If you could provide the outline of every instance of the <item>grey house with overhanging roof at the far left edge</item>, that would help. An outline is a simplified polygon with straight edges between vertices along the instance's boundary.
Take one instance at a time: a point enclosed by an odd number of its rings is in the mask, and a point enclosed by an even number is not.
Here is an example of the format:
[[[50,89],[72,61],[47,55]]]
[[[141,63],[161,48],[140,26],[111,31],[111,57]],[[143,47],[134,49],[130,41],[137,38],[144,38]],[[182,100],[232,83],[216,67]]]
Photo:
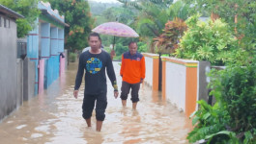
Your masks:
[[[19,84],[22,73],[16,59],[17,18],[23,16],[0,4],[0,120],[21,105],[23,99]]]

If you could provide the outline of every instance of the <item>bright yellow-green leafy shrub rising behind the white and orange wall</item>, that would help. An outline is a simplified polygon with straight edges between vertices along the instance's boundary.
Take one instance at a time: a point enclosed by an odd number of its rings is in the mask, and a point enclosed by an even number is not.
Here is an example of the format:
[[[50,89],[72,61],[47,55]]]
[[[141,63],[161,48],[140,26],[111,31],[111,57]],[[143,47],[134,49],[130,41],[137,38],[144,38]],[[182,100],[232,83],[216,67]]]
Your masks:
[[[208,22],[194,15],[186,20],[188,30],[182,37],[177,57],[190,60],[208,60],[213,65],[232,61],[232,52],[238,51],[238,40],[220,19]]]

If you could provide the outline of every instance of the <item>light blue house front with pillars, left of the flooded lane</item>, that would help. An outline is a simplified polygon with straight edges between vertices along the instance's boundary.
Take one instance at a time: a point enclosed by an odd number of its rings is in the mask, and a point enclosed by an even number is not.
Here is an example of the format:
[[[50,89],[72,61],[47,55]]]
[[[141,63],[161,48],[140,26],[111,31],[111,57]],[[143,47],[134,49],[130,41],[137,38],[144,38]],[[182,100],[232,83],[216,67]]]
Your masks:
[[[27,57],[36,62],[35,95],[38,94],[39,79],[43,78],[43,87],[47,88],[59,78],[60,53],[64,53],[64,16],[53,11],[49,3],[39,2],[42,11],[37,19],[38,25],[27,36]],[[44,67],[39,60],[44,60]],[[39,68],[43,68],[43,77],[39,77]],[[42,82],[42,81],[41,81]]]

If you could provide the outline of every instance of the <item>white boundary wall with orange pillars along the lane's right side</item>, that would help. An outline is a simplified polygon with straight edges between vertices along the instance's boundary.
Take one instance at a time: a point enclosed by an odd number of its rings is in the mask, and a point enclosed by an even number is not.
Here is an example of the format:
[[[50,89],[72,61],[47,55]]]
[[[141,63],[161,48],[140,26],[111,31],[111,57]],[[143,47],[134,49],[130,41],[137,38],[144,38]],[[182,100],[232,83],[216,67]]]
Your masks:
[[[156,54],[143,54],[146,60],[145,83],[158,90],[159,60]],[[162,99],[166,99],[184,111],[188,117],[197,110],[198,100],[209,101],[207,74],[211,70],[209,61],[181,60],[162,57]],[[213,100],[214,101],[214,100]]]

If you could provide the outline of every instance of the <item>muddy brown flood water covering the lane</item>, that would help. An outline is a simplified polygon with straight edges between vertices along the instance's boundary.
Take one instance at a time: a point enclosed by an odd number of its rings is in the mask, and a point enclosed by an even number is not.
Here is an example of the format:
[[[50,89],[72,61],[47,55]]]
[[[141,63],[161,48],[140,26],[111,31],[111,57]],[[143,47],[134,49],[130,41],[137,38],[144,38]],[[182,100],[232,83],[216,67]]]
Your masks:
[[[119,89],[119,62],[113,62]],[[190,121],[160,93],[142,84],[137,110],[122,108],[115,99],[108,81],[108,105],[101,132],[96,132],[95,111],[92,128],[82,118],[83,90],[78,99],[72,96],[77,63],[70,63],[66,73],[43,95],[34,97],[0,123],[0,143],[3,144],[185,144]],[[83,89],[84,85],[80,87]]]

